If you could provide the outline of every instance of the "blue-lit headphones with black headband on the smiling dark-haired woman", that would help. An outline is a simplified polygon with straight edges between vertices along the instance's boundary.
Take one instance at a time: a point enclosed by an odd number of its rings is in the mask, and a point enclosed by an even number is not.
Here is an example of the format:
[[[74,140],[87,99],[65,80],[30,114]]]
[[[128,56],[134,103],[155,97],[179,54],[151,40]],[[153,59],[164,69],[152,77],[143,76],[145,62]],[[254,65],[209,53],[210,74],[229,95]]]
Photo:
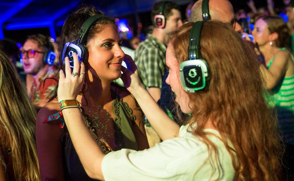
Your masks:
[[[102,17],[105,17],[102,14],[94,15],[89,17],[83,25],[81,26],[80,31],[77,33],[77,38],[74,42],[67,42],[62,51],[62,62],[65,64],[65,57],[69,57],[70,59],[70,67],[74,68],[74,58],[73,53],[77,53],[79,61],[83,61],[85,65],[88,62],[88,50],[85,46],[83,46],[85,37],[91,28],[91,26],[100,20]]]

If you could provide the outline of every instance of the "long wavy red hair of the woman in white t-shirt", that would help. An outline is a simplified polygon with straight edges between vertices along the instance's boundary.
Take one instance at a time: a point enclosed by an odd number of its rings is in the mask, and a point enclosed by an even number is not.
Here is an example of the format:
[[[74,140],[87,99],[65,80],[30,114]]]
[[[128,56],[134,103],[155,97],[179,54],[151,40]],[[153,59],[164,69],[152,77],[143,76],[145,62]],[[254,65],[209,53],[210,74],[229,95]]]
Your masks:
[[[188,59],[192,24],[184,24],[171,36],[179,63]],[[278,180],[281,137],[276,116],[265,101],[254,51],[228,24],[219,21],[204,23],[200,45],[201,57],[210,68],[210,82],[205,90],[187,93],[193,110],[188,123],[197,123],[196,128],[190,126],[192,133],[201,137],[210,157],[216,158],[216,146],[207,138],[212,133],[204,131],[209,121],[213,124],[231,155],[236,180]]]

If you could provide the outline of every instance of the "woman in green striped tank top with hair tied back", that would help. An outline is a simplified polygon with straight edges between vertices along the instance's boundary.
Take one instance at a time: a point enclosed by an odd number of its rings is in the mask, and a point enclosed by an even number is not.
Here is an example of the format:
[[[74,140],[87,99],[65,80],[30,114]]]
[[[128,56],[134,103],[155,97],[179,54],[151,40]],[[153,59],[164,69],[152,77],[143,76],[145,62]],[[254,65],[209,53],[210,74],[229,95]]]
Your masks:
[[[263,16],[252,34],[265,58],[266,67],[260,65],[260,69],[270,90],[269,105],[277,109],[284,142],[294,145],[294,57],[285,48],[288,27],[280,17]]]

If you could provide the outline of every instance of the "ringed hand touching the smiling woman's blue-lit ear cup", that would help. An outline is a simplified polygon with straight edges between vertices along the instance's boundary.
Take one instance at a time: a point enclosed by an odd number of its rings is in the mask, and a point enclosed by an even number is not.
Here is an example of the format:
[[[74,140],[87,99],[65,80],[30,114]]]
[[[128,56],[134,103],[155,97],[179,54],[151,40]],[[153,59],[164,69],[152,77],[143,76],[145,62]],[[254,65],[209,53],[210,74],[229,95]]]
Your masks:
[[[85,65],[79,63],[77,54],[73,54],[74,69],[71,72],[69,58],[65,58],[65,75],[62,70],[59,72],[59,83],[57,96],[58,101],[76,99],[79,94],[85,79]]]

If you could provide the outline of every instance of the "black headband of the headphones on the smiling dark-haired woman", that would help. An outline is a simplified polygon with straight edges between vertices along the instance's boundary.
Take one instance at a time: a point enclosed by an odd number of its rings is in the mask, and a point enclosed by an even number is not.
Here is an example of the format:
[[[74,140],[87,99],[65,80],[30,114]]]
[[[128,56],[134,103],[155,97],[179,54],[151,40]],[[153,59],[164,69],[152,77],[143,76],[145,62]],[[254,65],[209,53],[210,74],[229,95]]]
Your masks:
[[[91,28],[92,24],[94,24],[96,21],[101,19],[102,17],[105,17],[102,14],[94,15],[92,17],[89,17],[82,25],[80,31],[77,33],[77,38],[79,39],[79,43],[83,44],[84,38],[87,35],[89,29]]]

